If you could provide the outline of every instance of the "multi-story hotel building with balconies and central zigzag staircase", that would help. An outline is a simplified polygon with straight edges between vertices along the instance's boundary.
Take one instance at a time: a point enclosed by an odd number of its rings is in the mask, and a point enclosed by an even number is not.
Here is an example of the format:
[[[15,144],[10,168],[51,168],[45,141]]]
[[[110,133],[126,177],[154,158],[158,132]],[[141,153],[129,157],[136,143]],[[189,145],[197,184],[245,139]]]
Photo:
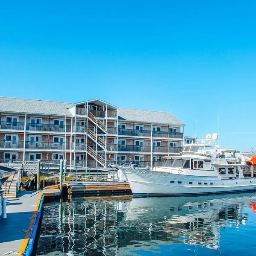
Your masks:
[[[122,160],[157,165],[178,154],[184,123],[171,113],[117,108],[100,99],[79,103],[0,97],[0,160],[37,160],[106,168]]]

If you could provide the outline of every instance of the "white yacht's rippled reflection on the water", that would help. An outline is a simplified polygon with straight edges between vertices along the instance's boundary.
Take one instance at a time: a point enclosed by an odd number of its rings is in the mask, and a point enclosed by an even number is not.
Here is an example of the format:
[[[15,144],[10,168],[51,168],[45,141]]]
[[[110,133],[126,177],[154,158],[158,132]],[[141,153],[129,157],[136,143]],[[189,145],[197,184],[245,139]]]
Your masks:
[[[160,199],[160,200],[159,200]],[[200,196],[180,198],[133,198],[125,224],[163,224],[166,238],[172,242],[218,249],[220,228],[246,224],[244,204],[253,204],[255,194]],[[156,226],[155,226],[156,224]]]

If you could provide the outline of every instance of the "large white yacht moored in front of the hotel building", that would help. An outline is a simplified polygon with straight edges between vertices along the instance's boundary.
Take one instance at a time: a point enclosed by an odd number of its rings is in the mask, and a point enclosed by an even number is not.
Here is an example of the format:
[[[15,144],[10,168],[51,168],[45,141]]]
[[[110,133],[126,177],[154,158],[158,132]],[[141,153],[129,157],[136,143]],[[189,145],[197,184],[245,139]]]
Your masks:
[[[256,178],[245,178],[240,164],[218,157],[217,134],[207,141],[186,144],[180,155],[164,157],[162,166],[149,169],[118,166],[134,196],[207,195],[256,190]]]

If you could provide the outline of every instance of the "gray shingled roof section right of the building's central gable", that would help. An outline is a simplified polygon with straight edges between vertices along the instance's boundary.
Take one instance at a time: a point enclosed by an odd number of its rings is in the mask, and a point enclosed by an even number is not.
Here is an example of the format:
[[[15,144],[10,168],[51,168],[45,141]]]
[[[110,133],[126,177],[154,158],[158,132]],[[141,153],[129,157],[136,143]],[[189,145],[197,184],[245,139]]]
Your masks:
[[[119,108],[118,115],[119,120],[170,125],[185,125],[183,122],[177,119],[177,117],[168,112]]]

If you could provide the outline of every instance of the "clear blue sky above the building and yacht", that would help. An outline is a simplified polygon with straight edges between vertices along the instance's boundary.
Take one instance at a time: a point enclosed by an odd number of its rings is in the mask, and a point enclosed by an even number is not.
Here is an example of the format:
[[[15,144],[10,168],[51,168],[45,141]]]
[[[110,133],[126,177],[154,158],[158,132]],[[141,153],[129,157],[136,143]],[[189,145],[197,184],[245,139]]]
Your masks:
[[[0,2],[0,95],[171,111],[256,150],[256,2]]]

